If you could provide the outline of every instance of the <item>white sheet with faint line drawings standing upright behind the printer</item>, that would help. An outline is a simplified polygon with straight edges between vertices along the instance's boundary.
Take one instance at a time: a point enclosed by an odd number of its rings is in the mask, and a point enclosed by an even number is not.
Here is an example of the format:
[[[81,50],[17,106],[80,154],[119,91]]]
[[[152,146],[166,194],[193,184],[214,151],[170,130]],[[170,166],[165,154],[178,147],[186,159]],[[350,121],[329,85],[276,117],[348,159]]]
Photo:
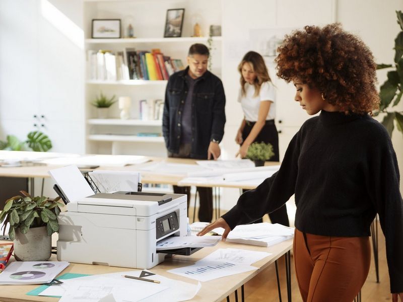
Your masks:
[[[101,193],[138,191],[140,172],[97,170],[88,173]]]

